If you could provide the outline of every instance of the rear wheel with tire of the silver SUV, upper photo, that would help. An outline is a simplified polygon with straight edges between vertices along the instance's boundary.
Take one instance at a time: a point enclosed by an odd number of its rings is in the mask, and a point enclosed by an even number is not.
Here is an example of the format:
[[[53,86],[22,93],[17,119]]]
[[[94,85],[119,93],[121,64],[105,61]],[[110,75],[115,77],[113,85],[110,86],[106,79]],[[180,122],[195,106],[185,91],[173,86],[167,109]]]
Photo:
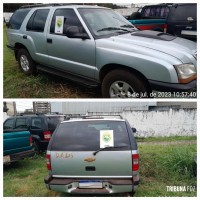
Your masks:
[[[17,55],[20,70],[26,75],[34,75],[36,66],[26,49],[20,49]]]

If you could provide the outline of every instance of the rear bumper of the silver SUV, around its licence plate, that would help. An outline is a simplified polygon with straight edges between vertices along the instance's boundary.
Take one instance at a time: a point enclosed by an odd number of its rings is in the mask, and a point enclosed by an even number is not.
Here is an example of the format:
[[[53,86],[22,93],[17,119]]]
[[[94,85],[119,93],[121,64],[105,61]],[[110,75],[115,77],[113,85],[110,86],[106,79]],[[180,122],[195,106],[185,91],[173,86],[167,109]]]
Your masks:
[[[98,180],[102,182],[102,188],[80,188],[79,181],[83,178],[53,178],[47,176],[44,179],[47,189],[60,192],[67,192],[72,194],[111,194],[111,193],[124,193],[134,192],[139,184],[139,181],[133,182],[133,179],[122,178],[104,178],[104,179],[84,179],[87,181]]]

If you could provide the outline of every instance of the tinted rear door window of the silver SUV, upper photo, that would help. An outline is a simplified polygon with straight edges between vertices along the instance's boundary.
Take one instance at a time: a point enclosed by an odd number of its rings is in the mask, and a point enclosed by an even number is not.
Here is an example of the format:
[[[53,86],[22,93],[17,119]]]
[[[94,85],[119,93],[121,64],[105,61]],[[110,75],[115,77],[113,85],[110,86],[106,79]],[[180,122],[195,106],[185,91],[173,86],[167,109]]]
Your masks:
[[[49,9],[36,10],[29,19],[26,26],[26,30],[43,32],[48,14],[49,14]]]

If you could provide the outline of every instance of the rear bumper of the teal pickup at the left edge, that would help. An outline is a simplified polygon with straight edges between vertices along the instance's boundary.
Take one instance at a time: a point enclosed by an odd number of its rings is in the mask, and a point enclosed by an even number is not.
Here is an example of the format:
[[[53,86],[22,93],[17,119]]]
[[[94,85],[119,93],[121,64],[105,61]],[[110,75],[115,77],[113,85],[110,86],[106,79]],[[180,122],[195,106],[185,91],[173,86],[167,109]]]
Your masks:
[[[5,157],[9,157],[9,159],[4,159],[5,162],[3,164],[16,162],[16,161],[22,160],[26,157],[31,157],[33,155],[34,155],[34,150],[28,150],[28,151],[24,151],[24,152],[19,152],[19,153],[7,155]]]

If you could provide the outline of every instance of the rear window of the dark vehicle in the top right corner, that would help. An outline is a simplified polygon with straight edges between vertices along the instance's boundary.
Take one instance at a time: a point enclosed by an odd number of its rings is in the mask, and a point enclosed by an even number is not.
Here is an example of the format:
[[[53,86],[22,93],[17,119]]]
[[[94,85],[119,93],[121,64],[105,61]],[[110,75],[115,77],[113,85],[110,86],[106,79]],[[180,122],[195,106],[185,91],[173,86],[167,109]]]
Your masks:
[[[185,4],[177,5],[171,8],[168,21],[187,21],[188,18],[197,19],[197,5]]]

